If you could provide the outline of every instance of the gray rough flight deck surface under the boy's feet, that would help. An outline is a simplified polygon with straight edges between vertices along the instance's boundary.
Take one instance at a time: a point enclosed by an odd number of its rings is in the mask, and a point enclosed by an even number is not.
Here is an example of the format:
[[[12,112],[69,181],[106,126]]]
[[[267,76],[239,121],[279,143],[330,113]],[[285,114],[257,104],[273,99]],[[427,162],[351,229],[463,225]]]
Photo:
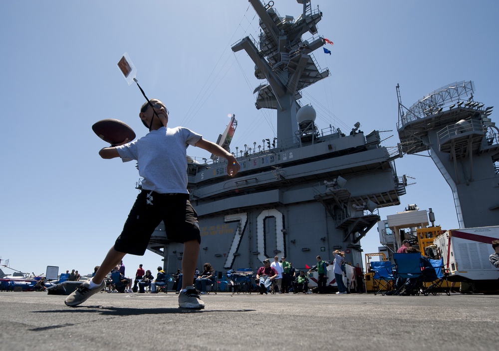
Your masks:
[[[0,350],[497,350],[499,296],[0,292]]]

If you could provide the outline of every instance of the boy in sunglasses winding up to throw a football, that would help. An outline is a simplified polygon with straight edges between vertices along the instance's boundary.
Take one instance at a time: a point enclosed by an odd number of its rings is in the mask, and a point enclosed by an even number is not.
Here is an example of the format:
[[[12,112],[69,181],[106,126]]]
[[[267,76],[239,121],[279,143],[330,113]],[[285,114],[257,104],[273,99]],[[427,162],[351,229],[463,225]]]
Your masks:
[[[205,307],[193,287],[194,271],[199,254],[201,235],[198,217],[187,191],[187,147],[200,147],[227,160],[227,174],[235,176],[241,168],[230,152],[203,139],[185,127],[168,127],[169,112],[165,104],[151,99],[140,108],[139,118],[149,129],[145,136],[99,151],[104,159],[120,157],[123,162],[136,160],[142,189],[125,222],[123,231],[109,250],[95,276],[83,282],[68,295],[65,304],[77,306],[102,290],[104,278],[125,254],[143,255],[149,238],[161,221],[168,239],[184,243],[182,271],[184,279],[179,306],[188,309]]]

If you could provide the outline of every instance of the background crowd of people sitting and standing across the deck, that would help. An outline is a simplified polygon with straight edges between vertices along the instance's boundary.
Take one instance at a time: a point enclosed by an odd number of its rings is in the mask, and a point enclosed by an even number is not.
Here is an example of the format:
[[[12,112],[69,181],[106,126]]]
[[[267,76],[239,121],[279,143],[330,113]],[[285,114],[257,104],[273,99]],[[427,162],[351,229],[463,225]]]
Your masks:
[[[499,268],[499,240],[494,240],[492,246],[495,252],[490,255],[491,263]],[[410,245],[408,240],[403,240],[401,247],[397,251],[398,253],[417,253],[419,252],[416,248]],[[313,289],[313,292],[317,293],[327,293],[331,289],[328,288],[327,281],[332,279],[332,276],[327,276],[327,267],[332,264],[332,273],[334,275],[334,280],[337,286],[336,294],[347,294],[348,291],[355,291],[358,293],[364,292],[364,272],[357,263],[355,267],[352,267],[355,274],[353,279],[345,279],[346,265],[351,265],[350,262],[345,262],[345,253],[343,251],[335,250],[332,252],[334,259],[332,262],[324,261],[321,256],[316,256],[316,264],[312,267],[308,267],[308,271],[296,269],[291,262],[289,262],[286,257],[282,256],[279,260],[278,256],[274,256],[273,261],[270,262],[265,259],[262,262],[262,266],[259,267],[254,276],[254,291],[260,294],[276,293],[312,293],[310,289],[310,277],[312,272],[317,272],[317,287]],[[94,273],[97,272],[99,266],[94,268]],[[329,270],[329,271],[331,271]],[[123,261],[119,265],[116,265],[110,273],[110,276],[106,279],[106,290],[108,292],[138,292],[145,293],[148,290],[152,294],[158,292],[168,292],[168,274],[163,270],[161,266],[157,267],[156,277],[152,274],[150,270],[144,270],[142,264],[139,264],[137,271],[135,273],[135,278],[125,276],[125,265]],[[68,280],[76,281],[80,279],[80,275],[77,270],[66,271],[68,274]],[[117,276],[117,279],[113,281],[113,274]],[[180,269],[177,270],[173,277],[173,287],[172,290],[177,294],[180,292],[182,286],[183,274]],[[196,267],[195,276],[193,280],[193,286],[198,290],[201,295],[207,293],[207,287],[212,287],[216,283],[216,271],[209,262],[203,265],[203,271],[200,272]],[[315,280],[315,279],[314,279]],[[344,284],[344,280],[347,280],[349,288]],[[132,287],[133,283],[133,287]],[[395,284],[396,288],[400,288],[401,285],[407,284],[407,280],[397,281]],[[117,285],[120,288],[117,288]],[[465,284],[466,285],[466,284]],[[455,282],[451,285],[450,292],[456,292]],[[212,287],[213,288],[213,287]],[[44,278],[39,280],[36,285],[37,290],[44,291]],[[461,288],[461,293],[466,293],[466,289]],[[390,295],[390,292],[387,292]]]

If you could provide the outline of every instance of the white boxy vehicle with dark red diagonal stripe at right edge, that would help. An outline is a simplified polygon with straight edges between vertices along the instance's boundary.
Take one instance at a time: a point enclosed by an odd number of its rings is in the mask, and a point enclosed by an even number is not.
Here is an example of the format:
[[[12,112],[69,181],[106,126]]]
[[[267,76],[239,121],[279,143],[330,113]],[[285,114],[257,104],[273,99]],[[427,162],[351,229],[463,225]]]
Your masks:
[[[489,256],[492,241],[499,240],[499,226],[449,230],[433,243],[442,254],[449,281],[473,281],[477,290],[499,290],[499,269]]]

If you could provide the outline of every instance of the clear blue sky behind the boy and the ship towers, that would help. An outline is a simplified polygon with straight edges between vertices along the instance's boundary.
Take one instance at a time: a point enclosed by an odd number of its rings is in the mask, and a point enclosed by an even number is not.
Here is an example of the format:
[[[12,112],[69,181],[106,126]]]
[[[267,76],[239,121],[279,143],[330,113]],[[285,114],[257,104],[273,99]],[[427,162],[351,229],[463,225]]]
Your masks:
[[[475,100],[499,108],[498,1],[312,0],[317,5],[319,34],[334,45],[326,46],[332,55],[314,56],[331,77],[303,91],[301,103],[316,108],[319,128],[348,131],[359,121],[365,132],[392,130],[382,135],[393,135],[385,145],[395,146],[397,83],[409,107],[444,85],[473,80]],[[274,0],[274,7],[301,13],[294,0]],[[117,118],[138,137],[147,132],[138,118],[144,98],[116,66],[124,52],[149,98],[166,103],[170,126],[216,141],[236,114],[233,147],[274,137],[275,111],[254,108],[254,64],[231,51],[258,32],[246,0],[1,1],[1,258],[24,272],[55,265],[86,274],[121,232],[138,173],[133,162],[98,156],[106,145],[91,125]],[[195,147],[188,153],[209,156]],[[433,208],[443,228],[456,228],[451,190],[431,159],[404,156],[396,164],[416,184],[381,217],[415,203]],[[376,228],[362,244],[377,252]],[[161,264],[152,252],[124,262],[128,275],[139,263]]]

